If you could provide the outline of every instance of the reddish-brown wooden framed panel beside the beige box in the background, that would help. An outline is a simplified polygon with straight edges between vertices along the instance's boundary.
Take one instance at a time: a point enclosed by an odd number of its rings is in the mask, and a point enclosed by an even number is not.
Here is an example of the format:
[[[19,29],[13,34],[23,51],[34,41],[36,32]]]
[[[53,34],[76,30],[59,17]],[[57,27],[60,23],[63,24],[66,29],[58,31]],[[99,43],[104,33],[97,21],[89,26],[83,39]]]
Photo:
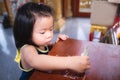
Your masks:
[[[71,0],[73,17],[90,17],[92,0]]]

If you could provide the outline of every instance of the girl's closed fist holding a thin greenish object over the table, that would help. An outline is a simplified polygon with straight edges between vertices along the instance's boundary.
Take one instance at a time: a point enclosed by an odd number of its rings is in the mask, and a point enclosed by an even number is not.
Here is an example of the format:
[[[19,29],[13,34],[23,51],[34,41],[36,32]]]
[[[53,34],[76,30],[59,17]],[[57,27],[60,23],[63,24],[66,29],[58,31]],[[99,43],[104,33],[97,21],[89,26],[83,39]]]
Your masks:
[[[90,68],[88,56],[73,56],[68,62],[69,69],[83,73]]]

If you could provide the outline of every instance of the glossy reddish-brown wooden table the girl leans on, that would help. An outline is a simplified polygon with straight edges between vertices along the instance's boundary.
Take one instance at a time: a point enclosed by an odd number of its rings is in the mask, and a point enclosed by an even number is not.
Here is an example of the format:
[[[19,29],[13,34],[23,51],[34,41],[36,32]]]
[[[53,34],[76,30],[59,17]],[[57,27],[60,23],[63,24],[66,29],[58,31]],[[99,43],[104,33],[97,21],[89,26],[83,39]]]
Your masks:
[[[120,80],[120,46],[67,39],[56,43],[49,55],[80,56],[85,47],[88,48],[91,65],[85,73],[36,70],[30,80]]]

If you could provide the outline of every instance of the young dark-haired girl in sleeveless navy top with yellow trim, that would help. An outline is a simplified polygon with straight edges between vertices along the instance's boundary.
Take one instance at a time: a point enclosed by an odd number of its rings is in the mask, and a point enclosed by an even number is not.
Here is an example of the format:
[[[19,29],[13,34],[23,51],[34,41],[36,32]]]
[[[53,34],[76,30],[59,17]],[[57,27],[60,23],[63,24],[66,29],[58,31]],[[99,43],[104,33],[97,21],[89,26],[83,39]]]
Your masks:
[[[88,56],[57,57],[47,55],[53,38],[53,11],[44,4],[29,2],[18,9],[14,22],[14,38],[20,52],[20,80],[29,80],[34,69],[84,72],[89,69]],[[59,34],[56,42],[68,36]]]

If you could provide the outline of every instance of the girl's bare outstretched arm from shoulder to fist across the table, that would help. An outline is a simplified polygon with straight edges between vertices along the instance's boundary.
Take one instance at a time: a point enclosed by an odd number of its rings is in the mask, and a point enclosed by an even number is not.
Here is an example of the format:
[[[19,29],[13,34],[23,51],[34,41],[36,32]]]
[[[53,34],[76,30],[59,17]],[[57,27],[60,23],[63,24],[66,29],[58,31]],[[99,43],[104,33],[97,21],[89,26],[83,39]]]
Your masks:
[[[89,69],[88,56],[58,57],[39,55],[33,46],[24,46],[21,49],[22,58],[31,67],[38,70],[63,70],[70,69],[84,72]],[[23,65],[24,67],[24,65]]]

